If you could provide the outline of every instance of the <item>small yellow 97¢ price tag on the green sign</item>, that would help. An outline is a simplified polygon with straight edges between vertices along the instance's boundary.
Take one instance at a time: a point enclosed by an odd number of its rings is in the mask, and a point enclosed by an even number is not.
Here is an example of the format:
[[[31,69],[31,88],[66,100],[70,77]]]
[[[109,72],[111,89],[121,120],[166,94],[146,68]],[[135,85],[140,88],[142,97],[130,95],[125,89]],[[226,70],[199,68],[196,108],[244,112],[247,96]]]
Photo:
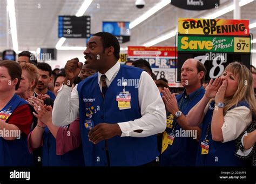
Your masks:
[[[250,52],[250,38],[235,37],[234,38],[234,52]]]

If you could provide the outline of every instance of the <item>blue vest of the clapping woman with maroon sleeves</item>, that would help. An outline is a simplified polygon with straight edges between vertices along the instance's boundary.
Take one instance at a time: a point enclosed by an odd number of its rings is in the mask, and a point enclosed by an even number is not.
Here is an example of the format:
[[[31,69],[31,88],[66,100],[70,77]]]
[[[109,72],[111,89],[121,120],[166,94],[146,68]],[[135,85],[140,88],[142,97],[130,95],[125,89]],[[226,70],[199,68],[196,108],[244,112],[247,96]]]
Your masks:
[[[66,128],[68,128],[66,126]],[[48,127],[45,127],[42,166],[84,166],[82,146],[79,146],[64,155],[56,155],[56,139]]]

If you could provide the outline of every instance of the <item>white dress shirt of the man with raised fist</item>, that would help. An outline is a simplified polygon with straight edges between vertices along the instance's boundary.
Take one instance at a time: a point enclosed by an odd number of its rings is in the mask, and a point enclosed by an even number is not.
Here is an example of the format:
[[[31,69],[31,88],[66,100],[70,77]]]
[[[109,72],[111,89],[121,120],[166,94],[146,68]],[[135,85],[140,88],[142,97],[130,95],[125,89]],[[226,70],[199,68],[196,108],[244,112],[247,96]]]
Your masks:
[[[112,83],[120,70],[120,63],[117,62],[106,75],[106,85]],[[98,72],[98,83],[100,90],[102,85],[100,81],[102,73]],[[161,99],[159,90],[151,76],[143,71],[139,78],[138,85],[139,107],[142,117],[132,121],[118,122],[122,131],[121,137],[147,137],[157,133],[164,132],[166,128],[165,105]],[[122,110],[121,110],[122,111]],[[79,118],[79,97],[77,85],[71,91],[71,87],[63,85],[58,91],[55,99],[52,122],[56,126],[70,124],[73,120]],[[141,133],[135,130],[143,130]]]

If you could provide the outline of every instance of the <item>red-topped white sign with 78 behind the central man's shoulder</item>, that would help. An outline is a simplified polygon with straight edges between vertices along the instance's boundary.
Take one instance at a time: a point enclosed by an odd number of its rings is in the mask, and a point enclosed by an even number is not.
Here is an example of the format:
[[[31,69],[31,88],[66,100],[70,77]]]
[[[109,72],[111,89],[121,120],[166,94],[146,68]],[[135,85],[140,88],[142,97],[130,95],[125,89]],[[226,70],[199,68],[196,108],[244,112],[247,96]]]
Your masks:
[[[175,50],[176,47],[172,46],[128,46],[127,60],[147,60],[157,79],[165,78],[168,80],[169,86],[179,87],[180,85],[175,83]]]

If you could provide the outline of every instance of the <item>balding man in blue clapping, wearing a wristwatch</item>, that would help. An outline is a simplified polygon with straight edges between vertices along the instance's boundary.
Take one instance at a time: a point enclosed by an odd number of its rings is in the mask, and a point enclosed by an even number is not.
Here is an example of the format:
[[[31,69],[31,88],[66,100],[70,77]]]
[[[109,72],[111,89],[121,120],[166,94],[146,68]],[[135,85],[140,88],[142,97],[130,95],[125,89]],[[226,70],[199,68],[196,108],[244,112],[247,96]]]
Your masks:
[[[196,59],[187,59],[181,67],[183,93],[175,96],[169,89],[163,90],[167,114],[167,126],[163,135],[161,166],[195,166],[199,127],[186,124],[186,115],[204,96],[202,86],[206,74],[205,66]]]

